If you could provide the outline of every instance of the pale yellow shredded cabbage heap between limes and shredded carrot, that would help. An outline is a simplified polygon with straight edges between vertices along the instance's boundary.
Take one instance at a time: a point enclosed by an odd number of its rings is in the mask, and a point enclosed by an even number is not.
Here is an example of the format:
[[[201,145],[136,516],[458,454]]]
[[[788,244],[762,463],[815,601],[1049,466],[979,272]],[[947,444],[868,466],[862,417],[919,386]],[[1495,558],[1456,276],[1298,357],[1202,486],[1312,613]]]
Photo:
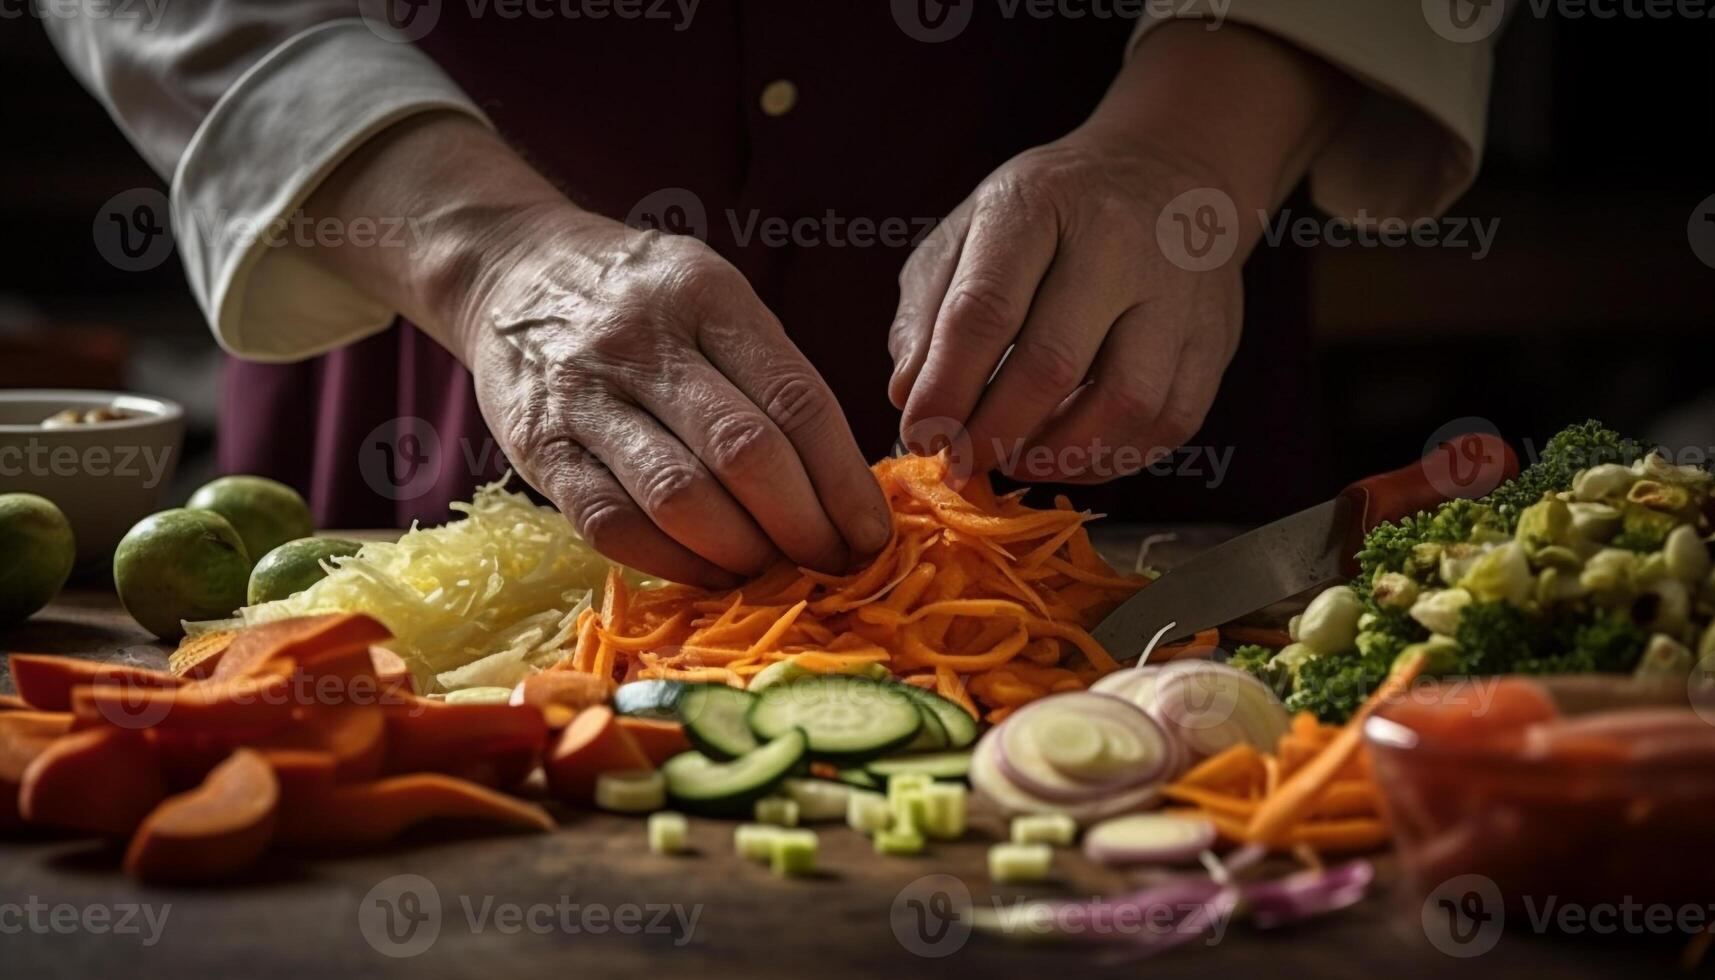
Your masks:
[[[367,613],[422,693],[511,687],[573,644],[578,613],[609,563],[571,522],[506,489],[511,474],[477,489],[465,513],[412,527],[398,542],[369,542],[334,558],[309,589],[238,609],[245,626],[321,613]],[[633,582],[636,578],[633,577]]]

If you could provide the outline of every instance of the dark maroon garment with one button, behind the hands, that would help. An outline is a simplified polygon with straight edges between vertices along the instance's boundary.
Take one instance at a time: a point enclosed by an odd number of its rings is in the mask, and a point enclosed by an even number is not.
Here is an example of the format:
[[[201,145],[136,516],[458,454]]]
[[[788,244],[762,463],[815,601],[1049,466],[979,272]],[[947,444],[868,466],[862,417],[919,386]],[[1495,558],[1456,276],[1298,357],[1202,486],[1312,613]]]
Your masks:
[[[703,0],[683,31],[648,17],[468,19],[468,5],[442,3],[420,45],[578,204],[700,230],[876,458],[899,426],[887,328],[909,240],[1007,158],[1086,118],[1134,26],[1003,9],[974,2],[957,38],[923,43],[875,0]],[[768,115],[761,93],[777,79],[797,101]],[[868,228],[887,244],[856,244]],[[1261,249],[1245,278],[1245,338],[1190,441],[1228,455],[1221,479],[1195,450],[1171,469],[1199,474],[1077,487],[1075,501],[1149,522],[1264,520],[1326,496],[1309,451],[1302,256]],[[406,323],[302,364],[232,360],[225,396],[221,467],[298,486],[324,527],[442,522],[508,465],[468,372]]]

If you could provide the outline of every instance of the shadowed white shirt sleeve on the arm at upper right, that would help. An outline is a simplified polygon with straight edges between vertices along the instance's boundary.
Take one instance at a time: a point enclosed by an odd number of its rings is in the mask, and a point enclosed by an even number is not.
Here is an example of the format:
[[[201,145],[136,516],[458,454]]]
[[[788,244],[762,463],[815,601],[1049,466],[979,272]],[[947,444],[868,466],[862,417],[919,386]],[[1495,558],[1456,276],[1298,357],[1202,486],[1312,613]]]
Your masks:
[[[1266,31],[1341,69],[1367,93],[1310,161],[1310,197],[1345,218],[1411,220],[1441,215],[1482,160],[1501,3],[1466,7],[1482,19],[1432,22],[1441,7],[1417,0],[1188,0],[1146,14],[1130,50],[1175,17],[1200,17]]]

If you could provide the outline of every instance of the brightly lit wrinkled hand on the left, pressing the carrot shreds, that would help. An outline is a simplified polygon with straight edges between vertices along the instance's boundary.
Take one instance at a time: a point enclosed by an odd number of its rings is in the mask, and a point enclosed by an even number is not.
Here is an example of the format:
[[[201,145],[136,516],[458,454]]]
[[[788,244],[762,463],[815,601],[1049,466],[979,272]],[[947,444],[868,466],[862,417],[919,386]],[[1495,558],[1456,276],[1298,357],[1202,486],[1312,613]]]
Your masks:
[[[569,206],[502,239],[460,304],[465,364],[501,448],[599,551],[729,585],[887,542],[839,403],[737,269]]]

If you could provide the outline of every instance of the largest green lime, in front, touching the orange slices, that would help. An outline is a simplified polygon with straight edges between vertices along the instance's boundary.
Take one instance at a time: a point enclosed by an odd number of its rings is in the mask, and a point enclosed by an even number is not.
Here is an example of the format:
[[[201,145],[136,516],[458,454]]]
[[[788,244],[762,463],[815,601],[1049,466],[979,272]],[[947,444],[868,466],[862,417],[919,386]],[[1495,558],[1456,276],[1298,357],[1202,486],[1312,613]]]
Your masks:
[[[146,517],[113,553],[113,585],[137,625],[163,640],[180,620],[220,620],[244,606],[250,556],[225,517],[209,510],[163,510]]]

